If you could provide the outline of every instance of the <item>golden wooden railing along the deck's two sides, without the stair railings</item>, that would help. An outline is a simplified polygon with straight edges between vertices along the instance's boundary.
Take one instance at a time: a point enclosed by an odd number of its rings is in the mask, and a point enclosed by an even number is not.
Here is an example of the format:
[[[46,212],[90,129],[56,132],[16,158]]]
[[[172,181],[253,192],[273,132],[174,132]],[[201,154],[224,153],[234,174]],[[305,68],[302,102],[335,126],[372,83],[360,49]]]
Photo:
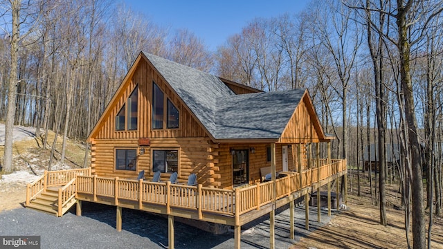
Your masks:
[[[334,160],[330,165],[320,168],[320,181],[328,176],[337,174],[346,169],[346,160]],[[301,180],[301,182],[300,182]],[[251,210],[260,210],[263,205],[289,196],[304,187],[317,183],[318,169],[309,169],[305,172],[291,172],[287,176],[275,180],[275,197],[273,196],[273,182],[257,183],[248,187],[234,190],[221,190],[210,187],[188,186],[149,181],[136,181],[98,176],[77,176],[77,194],[92,194],[93,201],[98,198],[114,199],[114,205],[119,201],[137,201],[139,208],[145,204],[163,205],[167,213],[171,208],[195,210],[199,217],[203,212],[212,212],[235,216]]]

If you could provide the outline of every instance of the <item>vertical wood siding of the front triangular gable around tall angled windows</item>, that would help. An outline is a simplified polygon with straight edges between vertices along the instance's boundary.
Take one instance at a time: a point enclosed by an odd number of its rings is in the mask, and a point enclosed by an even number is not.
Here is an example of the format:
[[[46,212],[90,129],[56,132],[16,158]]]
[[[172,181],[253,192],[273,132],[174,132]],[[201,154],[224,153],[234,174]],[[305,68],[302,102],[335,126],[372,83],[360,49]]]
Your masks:
[[[152,82],[155,82],[164,93],[164,98],[168,98],[179,110],[179,128],[166,129],[164,120],[163,129],[151,129],[152,117]],[[145,59],[141,59],[132,77],[123,82],[123,91],[117,93],[116,101],[110,103],[111,108],[99,124],[96,132],[91,138],[99,139],[133,139],[133,138],[183,138],[183,137],[206,137],[206,131],[199,122],[184,107],[181,100],[163,81],[163,78],[149,66]],[[136,131],[116,131],[116,115],[127,102],[128,96],[138,85],[138,129]],[[164,106],[166,112],[166,105]],[[127,113],[126,113],[127,115]],[[165,117],[165,115],[164,115]]]

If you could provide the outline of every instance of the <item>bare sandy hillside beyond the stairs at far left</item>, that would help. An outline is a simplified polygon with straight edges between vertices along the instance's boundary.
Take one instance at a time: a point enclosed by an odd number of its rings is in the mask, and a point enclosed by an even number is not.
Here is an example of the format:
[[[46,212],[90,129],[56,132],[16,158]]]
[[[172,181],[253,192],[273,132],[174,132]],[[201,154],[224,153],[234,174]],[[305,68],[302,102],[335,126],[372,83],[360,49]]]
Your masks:
[[[3,131],[3,133],[2,133]],[[44,132],[44,131],[42,131]],[[4,124],[0,124],[0,159],[3,162],[4,152]],[[35,137],[35,129],[29,127],[15,127],[12,174],[0,174],[0,212],[18,208],[26,199],[26,184],[35,181],[48,169],[51,155],[51,146],[55,133],[48,131],[48,145],[43,149],[44,133],[39,138]],[[78,168],[83,165],[84,144],[82,142],[67,140],[66,159],[60,165],[60,151],[62,137],[58,136],[55,147],[55,158],[51,170]],[[90,163],[90,160],[88,160]]]

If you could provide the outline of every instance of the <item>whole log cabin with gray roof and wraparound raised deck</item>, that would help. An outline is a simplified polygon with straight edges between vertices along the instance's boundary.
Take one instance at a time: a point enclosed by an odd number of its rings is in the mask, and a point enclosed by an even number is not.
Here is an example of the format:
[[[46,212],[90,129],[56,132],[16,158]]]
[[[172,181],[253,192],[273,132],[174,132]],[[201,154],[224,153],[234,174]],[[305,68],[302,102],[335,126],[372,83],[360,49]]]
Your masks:
[[[118,229],[122,207],[167,214],[170,248],[174,216],[233,225],[239,248],[241,225],[287,203],[293,211],[294,199],[345,175],[332,139],[305,89],[265,93],[142,52],[87,138],[91,167],[46,172],[28,185],[26,205],[62,185],[58,216],[66,203],[81,214],[81,201],[116,205]],[[158,171],[163,182],[150,182]],[[179,184],[168,181],[174,172]],[[186,185],[190,174],[197,186]]]

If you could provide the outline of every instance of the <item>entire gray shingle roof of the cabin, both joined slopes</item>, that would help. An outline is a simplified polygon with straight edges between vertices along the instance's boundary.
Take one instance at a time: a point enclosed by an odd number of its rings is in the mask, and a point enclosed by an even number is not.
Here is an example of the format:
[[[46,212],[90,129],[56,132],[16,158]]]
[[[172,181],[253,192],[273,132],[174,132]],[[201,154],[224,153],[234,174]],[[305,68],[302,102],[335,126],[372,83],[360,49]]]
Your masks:
[[[215,75],[143,53],[215,139],[278,139],[305,90],[235,95]]]

